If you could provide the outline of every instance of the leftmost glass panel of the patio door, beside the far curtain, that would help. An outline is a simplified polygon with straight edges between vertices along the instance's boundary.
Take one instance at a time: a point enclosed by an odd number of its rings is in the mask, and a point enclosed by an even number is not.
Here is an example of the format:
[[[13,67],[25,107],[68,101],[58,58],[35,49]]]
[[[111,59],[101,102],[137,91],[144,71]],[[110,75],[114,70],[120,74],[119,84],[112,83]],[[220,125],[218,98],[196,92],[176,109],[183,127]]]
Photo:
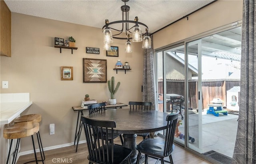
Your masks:
[[[184,45],[157,53],[158,110],[179,112],[176,140],[184,144],[185,62]]]

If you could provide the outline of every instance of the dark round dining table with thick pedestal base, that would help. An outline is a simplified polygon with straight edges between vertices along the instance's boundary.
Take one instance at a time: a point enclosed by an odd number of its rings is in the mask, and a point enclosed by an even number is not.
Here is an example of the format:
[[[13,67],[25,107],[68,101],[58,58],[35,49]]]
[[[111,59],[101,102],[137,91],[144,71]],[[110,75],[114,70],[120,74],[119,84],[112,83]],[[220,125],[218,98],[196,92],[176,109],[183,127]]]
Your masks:
[[[136,133],[157,132],[166,129],[166,116],[164,112],[156,110],[136,111],[130,108],[108,109],[86,117],[96,120],[114,120],[116,122],[115,133],[122,133],[124,147],[132,149],[130,155],[132,164],[136,163]]]

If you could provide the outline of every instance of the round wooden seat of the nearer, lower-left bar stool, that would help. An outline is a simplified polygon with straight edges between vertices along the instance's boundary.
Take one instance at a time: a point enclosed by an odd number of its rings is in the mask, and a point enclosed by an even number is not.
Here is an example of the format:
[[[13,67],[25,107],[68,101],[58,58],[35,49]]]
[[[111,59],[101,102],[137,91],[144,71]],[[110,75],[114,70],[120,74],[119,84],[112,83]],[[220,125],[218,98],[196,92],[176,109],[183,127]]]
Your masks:
[[[4,128],[4,138],[16,139],[32,136],[39,131],[38,122],[20,122]]]

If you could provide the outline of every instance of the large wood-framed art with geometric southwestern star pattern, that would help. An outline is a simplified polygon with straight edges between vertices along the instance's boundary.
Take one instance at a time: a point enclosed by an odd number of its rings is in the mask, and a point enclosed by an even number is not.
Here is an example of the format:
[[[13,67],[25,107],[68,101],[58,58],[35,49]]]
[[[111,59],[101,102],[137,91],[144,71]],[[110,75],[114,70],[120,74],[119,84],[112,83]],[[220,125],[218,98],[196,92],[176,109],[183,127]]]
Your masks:
[[[107,82],[107,60],[83,58],[83,82]]]

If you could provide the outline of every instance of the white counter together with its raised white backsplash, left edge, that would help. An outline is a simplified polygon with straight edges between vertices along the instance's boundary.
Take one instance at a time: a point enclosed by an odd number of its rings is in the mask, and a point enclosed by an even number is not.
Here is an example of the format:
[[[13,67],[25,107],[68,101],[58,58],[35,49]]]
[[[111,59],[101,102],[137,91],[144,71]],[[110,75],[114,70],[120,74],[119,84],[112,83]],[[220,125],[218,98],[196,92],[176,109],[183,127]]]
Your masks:
[[[1,94],[0,125],[9,124],[32,105],[29,97],[29,93]]]

